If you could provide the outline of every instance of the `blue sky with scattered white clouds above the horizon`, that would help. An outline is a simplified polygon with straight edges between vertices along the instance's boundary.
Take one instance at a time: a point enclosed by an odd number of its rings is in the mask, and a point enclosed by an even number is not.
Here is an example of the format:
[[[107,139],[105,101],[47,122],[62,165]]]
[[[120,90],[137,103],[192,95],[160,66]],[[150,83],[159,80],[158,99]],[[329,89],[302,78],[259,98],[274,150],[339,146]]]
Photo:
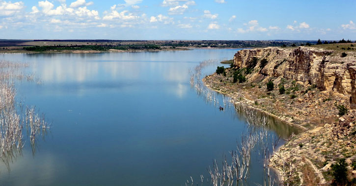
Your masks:
[[[356,40],[356,0],[0,0],[0,39]]]

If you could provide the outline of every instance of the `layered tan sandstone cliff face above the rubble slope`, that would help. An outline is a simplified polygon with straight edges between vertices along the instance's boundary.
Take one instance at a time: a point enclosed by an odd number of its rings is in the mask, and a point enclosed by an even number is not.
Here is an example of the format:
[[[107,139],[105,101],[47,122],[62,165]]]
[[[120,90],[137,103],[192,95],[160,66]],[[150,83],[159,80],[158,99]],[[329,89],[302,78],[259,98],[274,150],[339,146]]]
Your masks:
[[[267,47],[240,50],[234,56],[234,66],[245,68],[256,57],[258,63],[250,78],[261,74],[268,77],[294,79],[300,83],[315,84],[321,91],[333,91],[350,96],[350,107],[356,108],[356,58],[340,57],[331,50],[312,47],[293,49]],[[260,69],[262,59],[268,63]]]

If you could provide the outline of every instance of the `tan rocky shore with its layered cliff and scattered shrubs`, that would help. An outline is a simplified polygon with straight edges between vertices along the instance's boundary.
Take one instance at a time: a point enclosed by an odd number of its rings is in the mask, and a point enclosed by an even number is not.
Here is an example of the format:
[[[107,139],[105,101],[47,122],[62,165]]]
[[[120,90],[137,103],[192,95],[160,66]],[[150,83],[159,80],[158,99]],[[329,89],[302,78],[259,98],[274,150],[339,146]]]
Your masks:
[[[348,179],[355,182],[356,52],[342,52],[315,47],[240,50],[231,68],[203,79],[239,104],[304,129],[271,158],[284,185],[331,185],[331,166],[340,159],[346,159]]]

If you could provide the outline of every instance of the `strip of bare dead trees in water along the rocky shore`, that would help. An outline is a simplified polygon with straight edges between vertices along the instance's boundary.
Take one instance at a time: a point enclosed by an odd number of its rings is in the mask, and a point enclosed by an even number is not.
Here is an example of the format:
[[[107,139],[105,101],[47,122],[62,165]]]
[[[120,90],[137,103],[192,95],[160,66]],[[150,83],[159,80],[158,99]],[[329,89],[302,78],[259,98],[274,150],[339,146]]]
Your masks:
[[[251,156],[260,156],[261,168],[266,173],[263,183],[256,183],[256,185],[277,185],[278,177],[272,175],[268,164],[280,138],[268,132],[268,116],[241,102],[239,96],[231,99],[205,86],[201,78],[202,70],[210,65],[217,65],[217,61],[203,61],[190,70],[192,88],[195,88],[198,96],[203,97],[208,103],[216,106],[222,102],[224,107],[234,108],[234,111],[245,119],[247,131],[242,135],[241,140],[237,141],[236,150],[229,152],[230,156],[225,156],[221,163],[214,160],[213,165],[209,166],[207,171],[210,179],[204,182],[202,175],[200,176],[201,185],[206,183],[213,186],[233,186],[246,183],[251,171]],[[209,87],[216,87],[214,82],[207,83],[210,83]],[[187,180],[185,184],[194,185],[192,179],[191,182]]]

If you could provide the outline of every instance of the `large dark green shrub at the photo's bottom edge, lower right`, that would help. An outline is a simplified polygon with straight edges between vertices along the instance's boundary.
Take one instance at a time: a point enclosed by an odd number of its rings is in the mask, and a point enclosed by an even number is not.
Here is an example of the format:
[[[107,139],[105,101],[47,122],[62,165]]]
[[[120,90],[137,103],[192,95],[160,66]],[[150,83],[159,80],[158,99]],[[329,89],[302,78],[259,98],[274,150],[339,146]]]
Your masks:
[[[340,159],[336,164],[331,166],[331,174],[334,177],[333,185],[345,186],[348,183],[347,179],[347,164],[345,159]]]

